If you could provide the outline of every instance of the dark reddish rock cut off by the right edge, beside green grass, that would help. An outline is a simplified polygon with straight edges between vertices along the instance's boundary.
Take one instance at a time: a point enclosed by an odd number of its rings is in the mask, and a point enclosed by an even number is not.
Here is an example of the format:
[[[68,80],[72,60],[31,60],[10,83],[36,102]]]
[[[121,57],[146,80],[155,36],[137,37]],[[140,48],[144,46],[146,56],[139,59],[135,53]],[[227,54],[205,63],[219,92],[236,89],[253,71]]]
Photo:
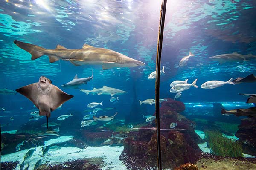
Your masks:
[[[256,118],[250,117],[241,120],[236,137],[242,143],[243,152],[256,156]]]

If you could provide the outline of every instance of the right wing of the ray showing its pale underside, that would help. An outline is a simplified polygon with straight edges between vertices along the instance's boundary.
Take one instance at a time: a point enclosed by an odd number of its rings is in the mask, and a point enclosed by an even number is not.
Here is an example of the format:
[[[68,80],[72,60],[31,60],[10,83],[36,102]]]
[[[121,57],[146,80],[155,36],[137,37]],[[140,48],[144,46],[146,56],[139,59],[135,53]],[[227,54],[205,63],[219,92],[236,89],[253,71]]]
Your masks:
[[[53,111],[74,96],[63,92],[61,89],[52,84],[52,90],[50,91],[49,97],[51,101],[51,110]]]

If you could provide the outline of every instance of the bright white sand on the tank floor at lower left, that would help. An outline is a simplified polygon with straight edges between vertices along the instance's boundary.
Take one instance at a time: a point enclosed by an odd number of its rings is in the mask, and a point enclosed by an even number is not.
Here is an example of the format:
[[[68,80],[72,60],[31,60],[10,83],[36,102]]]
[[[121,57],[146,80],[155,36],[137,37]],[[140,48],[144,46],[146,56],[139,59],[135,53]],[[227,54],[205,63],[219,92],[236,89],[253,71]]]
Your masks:
[[[61,136],[56,139],[45,141],[45,146],[65,142],[72,138],[72,136]],[[36,147],[36,151],[33,153],[32,157],[25,161],[25,168],[27,167],[27,162],[29,162],[29,170],[34,170],[35,163],[40,159],[40,156],[43,153],[41,150],[42,147],[43,146]],[[124,147],[120,146],[87,147],[85,149],[80,149],[77,147],[61,147],[59,150],[49,150],[49,154],[42,157],[42,164],[59,164],[76,159],[102,157],[103,161],[105,162],[105,167],[103,167],[102,170],[127,170],[125,165],[122,164],[122,161],[119,160],[119,156],[122,153],[123,148]],[[28,151],[29,150],[21,150],[8,155],[2,155],[1,161],[20,161],[21,164],[25,154]],[[20,164],[15,170],[20,169]]]

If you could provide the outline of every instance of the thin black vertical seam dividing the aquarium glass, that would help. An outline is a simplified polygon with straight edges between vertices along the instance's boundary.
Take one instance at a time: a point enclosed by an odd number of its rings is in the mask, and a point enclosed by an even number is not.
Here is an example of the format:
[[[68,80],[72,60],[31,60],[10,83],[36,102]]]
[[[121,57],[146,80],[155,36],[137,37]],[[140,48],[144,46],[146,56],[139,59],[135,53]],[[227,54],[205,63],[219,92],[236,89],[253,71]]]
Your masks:
[[[163,29],[164,20],[166,14],[166,3],[167,0],[162,1],[160,10],[160,25],[158,30],[157,40],[157,58],[156,58],[156,122],[157,122],[157,167],[158,170],[162,170],[162,158],[161,158],[161,142],[160,142],[160,114],[159,114],[159,88],[160,88],[160,66],[161,66],[161,55],[163,45]]]

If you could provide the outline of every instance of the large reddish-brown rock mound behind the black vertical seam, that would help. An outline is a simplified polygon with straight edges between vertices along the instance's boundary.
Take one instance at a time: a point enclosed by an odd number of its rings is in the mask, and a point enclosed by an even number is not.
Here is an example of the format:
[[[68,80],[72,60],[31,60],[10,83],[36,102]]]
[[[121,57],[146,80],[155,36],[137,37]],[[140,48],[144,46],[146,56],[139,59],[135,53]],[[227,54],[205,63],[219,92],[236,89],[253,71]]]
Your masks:
[[[185,106],[180,101],[167,98],[160,107],[161,151],[163,169],[178,167],[185,163],[194,163],[201,157],[197,142],[201,138],[194,132],[194,122],[186,119],[180,112]],[[155,115],[155,113],[153,114]],[[171,123],[177,123],[170,128]],[[157,134],[155,122],[140,127],[124,140],[124,150],[120,160],[130,170],[152,169],[157,167]]]

